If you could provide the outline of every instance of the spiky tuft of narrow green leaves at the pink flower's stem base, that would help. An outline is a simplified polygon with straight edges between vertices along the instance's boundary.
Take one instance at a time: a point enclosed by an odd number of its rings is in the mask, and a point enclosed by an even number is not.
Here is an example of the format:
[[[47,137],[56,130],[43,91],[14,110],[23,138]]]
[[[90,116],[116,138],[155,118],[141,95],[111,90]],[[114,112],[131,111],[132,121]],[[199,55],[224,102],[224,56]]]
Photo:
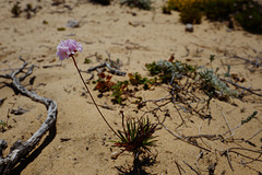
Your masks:
[[[115,147],[123,151],[132,152],[135,156],[144,152],[151,152],[155,147],[156,124],[151,124],[150,119],[127,119],[124,125],[124,115],[122,113],[122,130],[118,130],[120,140],[112,141]]]

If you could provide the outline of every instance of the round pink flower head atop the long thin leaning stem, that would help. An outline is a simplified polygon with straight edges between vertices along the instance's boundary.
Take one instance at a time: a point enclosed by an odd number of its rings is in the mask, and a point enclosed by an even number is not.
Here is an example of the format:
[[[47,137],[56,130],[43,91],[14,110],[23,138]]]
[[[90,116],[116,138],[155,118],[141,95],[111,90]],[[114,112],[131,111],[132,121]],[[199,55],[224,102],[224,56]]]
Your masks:
[[[59,60],[74,56],[76,51],[83,51],[83,47],[80,43],[73,39],[62,40],[57,47],[57,57]]]

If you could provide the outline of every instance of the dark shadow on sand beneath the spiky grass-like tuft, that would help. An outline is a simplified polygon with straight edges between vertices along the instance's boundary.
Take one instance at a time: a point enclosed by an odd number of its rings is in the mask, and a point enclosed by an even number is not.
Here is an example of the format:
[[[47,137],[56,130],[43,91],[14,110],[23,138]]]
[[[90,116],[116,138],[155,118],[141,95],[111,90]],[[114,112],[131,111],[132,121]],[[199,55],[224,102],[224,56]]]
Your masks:
[[[115,166],[120,175],[154,175],[152,173],[147,173],[145,167],[153,166],[157,163],[156,155],[143,155],[141,160],[139,158],[134,158],[132,167],[127,166]]]

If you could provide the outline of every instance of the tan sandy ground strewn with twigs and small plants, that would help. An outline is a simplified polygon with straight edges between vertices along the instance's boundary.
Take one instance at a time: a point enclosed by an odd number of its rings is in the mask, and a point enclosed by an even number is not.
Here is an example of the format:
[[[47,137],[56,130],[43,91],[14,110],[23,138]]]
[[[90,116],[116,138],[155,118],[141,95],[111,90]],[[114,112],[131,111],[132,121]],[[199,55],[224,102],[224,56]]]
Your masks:
[[[246,79],[240,85],[252,89],[262,88],[261,68],[253,69],[243,60],[233,58],[234,55],[237,55],[250,60],[258,58],[261,61],[262,36],[241,30],[230,32],[226,24],[210,23],[204,19],[201,25],[194,26],[193,33],[187,33],[184,25],[179,23],[177,12],[172,12],[171,15],[162,13],[160,4],[163,2],[157,2],[156,9],[153,11],[120,7],[115,2],[111,5],[103,7],[84,0],[66,0],[67,5],[51,5],[52,1],[50,0],[26,0],[21,3],[21,7],[25,8],[29,2],[33,7],[41,7],[31,19],[26,19],[25,13],[22,13],[20,18],[12,16],[11,8],[14,1],[1,0],[0,2],[0,73],[9,73],[12,71],[9,69],[21,67],[23,62],[17,59],[19,56],[22,56],[29,65],[36,66],[31,75],[31,78],[35,77],[34,84],[29,84],[29,78],[27,78],[23,81],[23,85],[28,90],[34,90],[38,95],[58,103],[57,133],[51,142],[45,145],[39,144],[39,149],[25,159],[13,174],[108,175],[121,174],[116,166],[123,166],[127,170],[132,167],[133,156],[129,153],[123,153],[117,160],[111,159],[111,153],[119,149],[112,148],[112,143],[108,140],[117,139],[117,137],[99,117],[90,96],[82,95],[83,84],[73,67],[73,61],[68,59],[59,62],[56,58],[56,47],[63,39],[76,39],[83,45],[83,52],[76,56],[76,61],[82,70],[99,65],[96,58],[92,57],[95,54],[102,55],[105,59],[108,57],[107,52],[110,52],[112,60],[119,59],[122,62],[121,70],[140,72],[143,75],[148,74],[144,67],[145,63],[167,60],[172,54],[175,54],[176,60],[205,67],[211,67],[210,55],[215,55],[216,60],[213,62],[213,67],[219,67],[225,72],[226,65],[230,65],[233,73]],[[79,21],[80,26],[67,27],[69,20]],[[45,24],[44,21],[48,24]],[[66,31],[58,31],[59,27],[64,27]],[[87,57],[92,60],[90,65],[84,63]],[[43,68],[43,66],[59,63],[61,66]],[[84,77],[87,80],[90,74],[84,73]],[[114,75],[115,81],[123,79]],[[45,106],[23,95],[16,95],[5,83],[10,83],[10,81],[0,79],[0,98],[7,97],[0,106],[0,119],[7,120],[9,109],[12,108],[22,107],[28,112],[23,115],[10,114],[9,125],[11,128],[0,132],[0,139],[4,139],[9,143],[4,155],[16,140],[28,139],[39,128],[46,116]],[[90,84],[90,88],[93,89],[94,84]],[[114,105],[109,95],[99,98],[97,91],[92,91],[92,93],[99,105],[110,107],[110,109],[100,109],[116,129],[121,127],[120,109],[124,110],[127,117],[138,118],[144,114],[143,110],[135,113],[136,108],[130,104]],[[156,88],[154,91],[143,93],[143,97],[157,100],[166,94],[167,92],[163,88]],[[233,98],[230,103],[213,100],[210,124],[198,116],[184,115],[186,124],[179,127],[181,118],[174,106],[166,107],[169,107],[170,110],[170,117],[165,121],[166,126],[175,133],[179,132],[183,136],[198,136],[200,132],[202,135],[222,135],[228,130],[224,117],[229,127],[235,128],[254,110],[258,110],[258,115],[250,122],[235,130],[236,141],[234,142],[198,140],[200,145],[212,150],[211,152],[202,150],[201,158],[199,158],[200,148],[177,140],[164,128],[157,130],[157,147],[152,150],[152,154],[157,155],[156,160],[152,164],[143,166],[144,172],[141,174],[179,174],[178,166],[181,166],[181,174],[195,174],[184,162],[200,171],[201,174],[209,174],[207,167],[215,163],[217,164],[215,174],[255,175],[262,172],[262,162],[251,162],[252,160],[230,153],[233,171],[227,158],[219,154],[219,151],[229,148],[261,151],[262,132],[259,131],[262,128],[262,98],[260,96],[248,95],[242,101]],[[152,115],[148,116],[155,121]],[[163,114],[159,114],[159,117],[163,118]],[[254,136],[257,132],[259,133]],[[257,147],[237,141],[241,138],[246,140],[251,138],[250,141]],[[260,155],[245,151],[240,151],[240,153],[253,159]],[[251,163],[243,166],[243,162]],[[131,172],[130,174],[136,173]]]

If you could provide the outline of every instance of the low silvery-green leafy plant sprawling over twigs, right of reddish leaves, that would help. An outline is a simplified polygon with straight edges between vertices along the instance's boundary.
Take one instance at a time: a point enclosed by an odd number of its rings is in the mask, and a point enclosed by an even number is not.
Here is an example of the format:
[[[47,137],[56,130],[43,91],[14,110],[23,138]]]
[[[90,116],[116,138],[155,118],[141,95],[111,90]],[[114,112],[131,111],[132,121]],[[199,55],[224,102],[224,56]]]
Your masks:
[[[211,56],[211,59],[213,57]],[[147,63],[145,67],[152,75],[158,75],[163,83],[172,84],[174,80],[181,80],[183,77],[188,77],[199,82],[200,89],[210,97],[228,98],[229,96],[236,97],[238,95],[238,92],[230,90],[212,69],[202,68],[200,71],[196,71],[195,66],[180,61],[158,61]]]

